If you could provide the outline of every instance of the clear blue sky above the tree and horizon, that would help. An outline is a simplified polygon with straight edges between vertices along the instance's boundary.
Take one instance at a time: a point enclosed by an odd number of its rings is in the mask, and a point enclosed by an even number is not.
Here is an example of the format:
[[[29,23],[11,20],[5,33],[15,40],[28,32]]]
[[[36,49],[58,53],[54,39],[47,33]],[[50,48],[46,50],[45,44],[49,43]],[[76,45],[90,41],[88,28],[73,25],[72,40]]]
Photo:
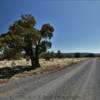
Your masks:
[[[54,28],[52,50],[100,52],[100,2],[89,0],[0,0],[0,33],[21,14],[31,13],[37,27]]]

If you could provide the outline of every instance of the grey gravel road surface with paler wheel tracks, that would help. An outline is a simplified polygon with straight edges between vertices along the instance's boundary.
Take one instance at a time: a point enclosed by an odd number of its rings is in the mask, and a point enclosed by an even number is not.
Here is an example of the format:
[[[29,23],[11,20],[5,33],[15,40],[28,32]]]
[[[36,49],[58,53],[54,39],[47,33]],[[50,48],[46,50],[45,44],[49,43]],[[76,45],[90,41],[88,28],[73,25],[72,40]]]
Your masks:
[[[100,61],[10,81],[0,86],[0,100],[100,100]]]

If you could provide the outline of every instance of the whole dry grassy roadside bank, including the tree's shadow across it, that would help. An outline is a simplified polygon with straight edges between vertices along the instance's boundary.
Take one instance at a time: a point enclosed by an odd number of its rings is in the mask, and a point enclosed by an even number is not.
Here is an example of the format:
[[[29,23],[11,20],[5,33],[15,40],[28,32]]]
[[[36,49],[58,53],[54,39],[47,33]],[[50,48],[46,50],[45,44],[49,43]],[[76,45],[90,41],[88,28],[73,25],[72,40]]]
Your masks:
[[[31,69],[30,61],[25,61],[25,59],[16,61],[1,61],[0,84],[6,83],[9,80],[25,78],[27,76],[55,72],[66,67],[70,67],[70,65],[76,64],[85,59],[86,58],[70,58],[70,59],[65,58],[65,59],[53,59],[50,61],[45,61],[44,59],[41,59],[40,60],[41,68],[37,68],[35,70]]]

